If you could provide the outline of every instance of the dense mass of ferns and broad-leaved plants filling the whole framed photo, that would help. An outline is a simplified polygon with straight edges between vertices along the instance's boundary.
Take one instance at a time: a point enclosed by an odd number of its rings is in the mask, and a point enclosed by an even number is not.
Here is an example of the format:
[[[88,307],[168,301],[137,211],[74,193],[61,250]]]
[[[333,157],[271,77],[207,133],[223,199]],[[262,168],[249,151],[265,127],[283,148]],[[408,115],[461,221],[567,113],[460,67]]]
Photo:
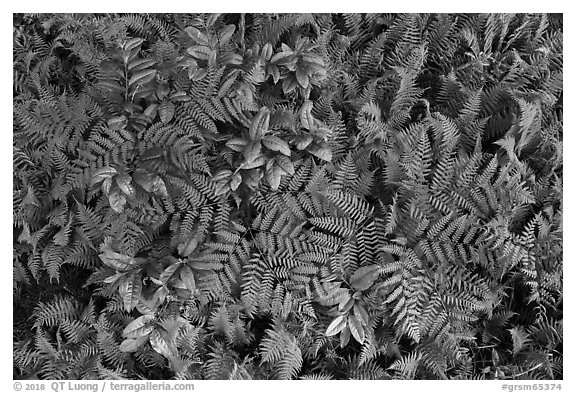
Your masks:
[[[562,378],[562,17],[14,16],[14,375]]]

